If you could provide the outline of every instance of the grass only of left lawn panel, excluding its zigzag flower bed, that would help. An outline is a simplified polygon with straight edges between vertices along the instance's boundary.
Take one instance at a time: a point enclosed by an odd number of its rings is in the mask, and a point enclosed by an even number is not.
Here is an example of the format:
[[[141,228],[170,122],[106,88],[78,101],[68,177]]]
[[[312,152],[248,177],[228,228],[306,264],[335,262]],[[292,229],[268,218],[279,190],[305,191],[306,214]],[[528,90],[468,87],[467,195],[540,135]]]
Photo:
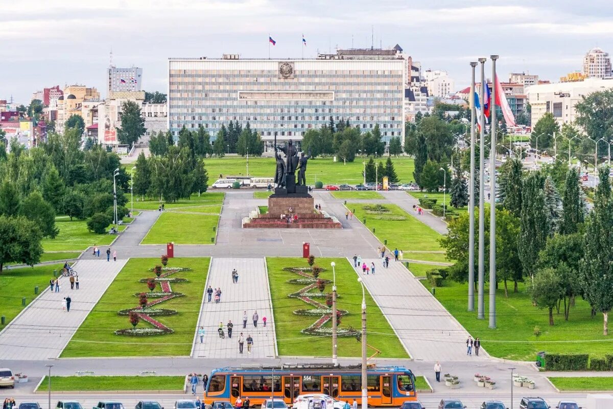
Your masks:
[[[168,267],[189,267],[178,272],[176,278],[186,278],[186,283],[173,283],[175,292],[185,294],[163,304],[159,308],[176,310],[176,315],[155,316],[162,324],[175,332],[151,337],[115,335],[117,329],[131,327],[128,316],[120,316],[118,310],[138,304],[137,292],[147,291],[141,278],[153,277],[148,269],[159,264],[159,258],[130,259],[117,275],[102,298],[94,306],[62,353],[62,357],[111,357],[111,356],[188,356],[200,313],[200,302],[207,280],[210,258],[172,258]],[[159,291],[159,285],[156,291]],[[137,328],[149,328],[141,321]],[[112,389],[116,390],[116,389]]]

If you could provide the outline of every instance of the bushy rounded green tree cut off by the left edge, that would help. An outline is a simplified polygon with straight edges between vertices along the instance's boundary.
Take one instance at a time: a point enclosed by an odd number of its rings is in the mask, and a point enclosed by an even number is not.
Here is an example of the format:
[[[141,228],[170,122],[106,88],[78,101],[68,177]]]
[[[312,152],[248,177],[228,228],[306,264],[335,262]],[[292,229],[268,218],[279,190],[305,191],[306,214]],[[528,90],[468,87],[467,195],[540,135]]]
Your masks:
[[[43,253],[42,233],[34,221],[23,216],[0,216],[0,273],[7,262],[33,266]]]

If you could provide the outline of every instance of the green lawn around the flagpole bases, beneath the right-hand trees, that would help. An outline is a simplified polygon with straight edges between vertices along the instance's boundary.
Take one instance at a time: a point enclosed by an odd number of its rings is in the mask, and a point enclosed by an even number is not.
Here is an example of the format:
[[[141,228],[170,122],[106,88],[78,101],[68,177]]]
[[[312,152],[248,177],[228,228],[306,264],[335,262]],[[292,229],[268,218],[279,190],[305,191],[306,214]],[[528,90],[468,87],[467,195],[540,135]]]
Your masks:
[[[422,284],[430,288],[429,283],[422,281]],[[576,305],[570,310],[569,321],[564,321],[564,314],[557,314],[554,309],[555,326],[549,326],[547,310],[532,306],[524,283],[519,283],[519,292],[512,291],[513,283],[509,281],[509,297],[505,298],[503,283],[500,283],[496,297],[497,329],[488,328],[487,283],[486,319],[477,319],[476,311],[466,312],[468,294],[466,284],[446,280],[444,286],[436,288],[436,298],[473,335],[473,338],[481,338],[481,346],[495,357],[534,361],[539,351],[563,354],[590,353],[593,356],[611,353],[613,341],[611,337],[603,336],[602,314],[590,318],[590,306],[581,297],[576,297]],[[561,312],[562,310],[563,308],[560,308]],[[538,339],[534,335],[535,326],[541,329]],[[570,340],[572,342],[569,342]]]

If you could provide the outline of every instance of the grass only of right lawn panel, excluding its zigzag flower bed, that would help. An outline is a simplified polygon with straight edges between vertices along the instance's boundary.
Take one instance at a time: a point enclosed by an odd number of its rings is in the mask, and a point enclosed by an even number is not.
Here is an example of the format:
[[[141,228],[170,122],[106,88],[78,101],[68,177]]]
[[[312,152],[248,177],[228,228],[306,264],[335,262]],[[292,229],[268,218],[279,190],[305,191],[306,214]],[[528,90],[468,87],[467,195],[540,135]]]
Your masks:
[[[352,326],[360,328],[360,304],[362,302],[362,290],[357,281],[357,274],[352,269],[349,262],[344,258],[318,258],[315,263],[327,270],[322,272],[319,277],[332,279],[330,262],[336,263],[336,276],[338,286],[338,308],[349,311],[349,315],[343,316],[340,327],[347,328]],[[298,291],[304,285],[287,283],[292,278],[300,278],[299,275],[286,272],[283,267],[303,267],[308,266],[307,260],[303,258],[267,258],[268,278],[270,280],[270,296],[272,297],[273,310],[275,313],[275,331],[279,348],[282,356],[330,356],[332,345],[329,337],[316,337],[313,335],[302,334],[302,329],[309,327],[318,316],[294,315],[292,312],[298,309],[310,309],[310,305],[305,302],[287,297],[288,294]],[[331,291],[330,285],[326,291]],[[315,290],[316,291],[316,290]],[[325,304],[324,299],[321,300]],[[400,357],[406,358],[408,354],[402,344],[394,334],[394,331],[387,323],[386,319],[375,304],[370,294],[367,293],[367,313],[372,327],[368,334],[368,345],[381,350],[380,357]],[[331,323],[326,324],[331,327]],[[354,337],[338,338],[339,356],[360,356],[360,343]],[[368,354],[374,353],[370,348]]]

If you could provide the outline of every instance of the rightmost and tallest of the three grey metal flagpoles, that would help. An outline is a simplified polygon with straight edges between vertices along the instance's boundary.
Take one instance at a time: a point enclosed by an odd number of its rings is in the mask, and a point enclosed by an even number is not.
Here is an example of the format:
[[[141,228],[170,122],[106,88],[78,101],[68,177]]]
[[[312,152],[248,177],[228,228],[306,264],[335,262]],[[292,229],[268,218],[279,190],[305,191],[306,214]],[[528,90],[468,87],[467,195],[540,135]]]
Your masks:
[[[492,143],[490,147],[490,328],[496,327],[496,60],[492,58]],[[500,96],[502,98],[502,96]]]

